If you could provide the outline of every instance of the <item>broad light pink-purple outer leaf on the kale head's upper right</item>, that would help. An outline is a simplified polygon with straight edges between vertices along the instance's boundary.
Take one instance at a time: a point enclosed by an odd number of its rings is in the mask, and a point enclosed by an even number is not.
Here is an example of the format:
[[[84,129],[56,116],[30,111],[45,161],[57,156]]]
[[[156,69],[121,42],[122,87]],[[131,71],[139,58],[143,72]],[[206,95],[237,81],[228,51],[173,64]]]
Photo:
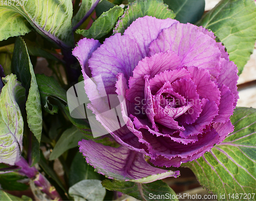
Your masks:
[[[150,55],[172,50],[181,65],[207,69],[212,76],[220,74],[221,53],[216,41],[190,24],[175,24],[164,29],[150,44]]]

